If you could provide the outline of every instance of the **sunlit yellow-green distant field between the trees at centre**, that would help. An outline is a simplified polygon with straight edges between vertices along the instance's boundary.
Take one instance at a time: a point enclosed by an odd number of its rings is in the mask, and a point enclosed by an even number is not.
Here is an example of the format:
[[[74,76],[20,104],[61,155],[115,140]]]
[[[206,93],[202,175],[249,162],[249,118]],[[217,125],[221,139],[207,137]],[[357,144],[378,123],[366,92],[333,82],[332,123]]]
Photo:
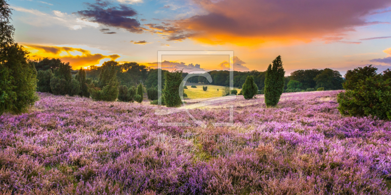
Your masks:
[[[185,93],[187,94],[189,99],[198,99],[198,98],[215,98],[223,96],[224,87],[217,85],[202,85],[197,84],[197,88],[191,88],[192,85],[196,85],[195,83],[186,83],[187,89],[185,89]],[[208,86],[208,90],[202,90],[202,86]],[[218,89],[218,91],[217,91]],[[241,89],[234,88],[240,93]]]

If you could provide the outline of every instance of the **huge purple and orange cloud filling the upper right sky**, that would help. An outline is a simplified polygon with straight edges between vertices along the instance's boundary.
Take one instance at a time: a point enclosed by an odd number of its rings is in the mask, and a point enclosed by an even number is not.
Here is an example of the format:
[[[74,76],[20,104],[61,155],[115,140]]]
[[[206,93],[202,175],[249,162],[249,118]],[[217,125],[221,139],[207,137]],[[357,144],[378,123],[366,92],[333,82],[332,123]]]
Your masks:
[[[204,15],[173,21],[183,36],[210,44],[311,41],[385,23],[367,21],[390,0],[195,0]],[[176,34],[174,37],[179,37]],[[338,41],[342,42],[342,40]],[[344,43],[358,43],[345,41]]]

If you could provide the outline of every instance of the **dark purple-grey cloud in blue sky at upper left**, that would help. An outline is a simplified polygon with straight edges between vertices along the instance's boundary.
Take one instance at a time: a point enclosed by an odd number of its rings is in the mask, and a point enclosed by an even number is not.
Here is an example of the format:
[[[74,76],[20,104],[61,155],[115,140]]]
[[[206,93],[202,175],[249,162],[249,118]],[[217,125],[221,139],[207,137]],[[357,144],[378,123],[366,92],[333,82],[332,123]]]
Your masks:
[[[109,2],[97,0],[96,3],[87,3],[87,10],[76,12],[78,15],[91,22],[97,22],[106,26],[123,28],[132,33],[142,33],[140,23],[133,18],[137,12],[128,5],[119,7],[110,6]]]

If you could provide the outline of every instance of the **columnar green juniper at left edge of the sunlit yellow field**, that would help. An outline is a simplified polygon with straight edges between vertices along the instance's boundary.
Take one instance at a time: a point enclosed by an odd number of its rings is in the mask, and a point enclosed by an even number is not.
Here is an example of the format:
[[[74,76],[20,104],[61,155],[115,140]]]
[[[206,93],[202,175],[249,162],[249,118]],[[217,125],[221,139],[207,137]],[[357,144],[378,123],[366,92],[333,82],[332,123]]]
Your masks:
[[[168,107],[178,107],[182,103],[179,97],[179,86],[182,82],[182,71],[165,72],[165,87],[162,91]]]

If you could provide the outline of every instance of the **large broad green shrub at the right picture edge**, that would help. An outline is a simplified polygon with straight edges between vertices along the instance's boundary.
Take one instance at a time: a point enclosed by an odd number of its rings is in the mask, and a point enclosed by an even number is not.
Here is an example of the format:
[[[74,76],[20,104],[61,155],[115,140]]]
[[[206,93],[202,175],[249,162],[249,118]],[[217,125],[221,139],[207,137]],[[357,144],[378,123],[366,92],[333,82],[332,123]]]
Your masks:
[[[338,110],[342,115],[372,116],[391,120],[391,79],[387,72],[377,74],[370,66],[349,70],[345,92],[338,94]]]

